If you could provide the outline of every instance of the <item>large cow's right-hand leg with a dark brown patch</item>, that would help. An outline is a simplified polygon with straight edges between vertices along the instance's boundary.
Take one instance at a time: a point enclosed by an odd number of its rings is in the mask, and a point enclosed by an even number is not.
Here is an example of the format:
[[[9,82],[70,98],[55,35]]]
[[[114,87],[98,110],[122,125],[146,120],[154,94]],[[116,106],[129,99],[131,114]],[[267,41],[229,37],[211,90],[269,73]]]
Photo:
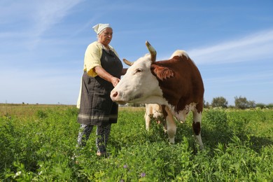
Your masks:
[[[195,132],[195,139],[202,149],[204,145],[201,139],[201,120],[202,111],[200,111],[200,113],[198,113],[197,110],[193,111],[193,132]]]

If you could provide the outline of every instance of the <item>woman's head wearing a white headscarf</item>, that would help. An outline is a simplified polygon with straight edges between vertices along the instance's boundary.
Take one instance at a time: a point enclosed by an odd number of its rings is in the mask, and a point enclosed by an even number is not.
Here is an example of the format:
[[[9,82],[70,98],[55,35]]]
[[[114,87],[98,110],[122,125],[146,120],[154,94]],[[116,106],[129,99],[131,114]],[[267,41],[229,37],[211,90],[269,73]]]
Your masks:
[[[98,24],[93,27],[97,33],[99,43],[103,45],[109,45],[113,36],[113,29],[109,24]]]

